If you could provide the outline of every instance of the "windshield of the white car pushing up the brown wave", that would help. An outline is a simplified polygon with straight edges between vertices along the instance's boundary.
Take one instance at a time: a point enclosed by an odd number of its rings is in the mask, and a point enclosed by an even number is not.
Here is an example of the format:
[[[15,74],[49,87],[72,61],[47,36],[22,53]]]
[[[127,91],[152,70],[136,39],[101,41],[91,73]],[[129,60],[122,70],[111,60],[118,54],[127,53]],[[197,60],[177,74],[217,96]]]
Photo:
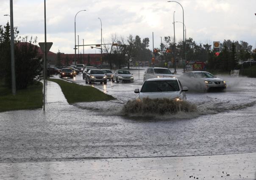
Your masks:
[[[163,81],[146,81],[141,89],[141,92],[167,92],[179,91],[178,82],[176,80],[163,80]]]

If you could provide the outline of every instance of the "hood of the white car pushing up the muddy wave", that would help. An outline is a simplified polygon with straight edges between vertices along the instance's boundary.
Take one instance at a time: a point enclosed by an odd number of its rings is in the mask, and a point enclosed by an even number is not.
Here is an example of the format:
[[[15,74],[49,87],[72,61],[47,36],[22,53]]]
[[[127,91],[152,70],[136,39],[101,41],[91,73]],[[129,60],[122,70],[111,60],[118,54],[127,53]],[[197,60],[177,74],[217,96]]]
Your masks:
[[[180,97],[180,91],[172,91],[172,92],[153,92],[153,93],[143,93],[140,92],[139,96],[140,99],[142,98],[168,98],[168,99],[174,99]]]

